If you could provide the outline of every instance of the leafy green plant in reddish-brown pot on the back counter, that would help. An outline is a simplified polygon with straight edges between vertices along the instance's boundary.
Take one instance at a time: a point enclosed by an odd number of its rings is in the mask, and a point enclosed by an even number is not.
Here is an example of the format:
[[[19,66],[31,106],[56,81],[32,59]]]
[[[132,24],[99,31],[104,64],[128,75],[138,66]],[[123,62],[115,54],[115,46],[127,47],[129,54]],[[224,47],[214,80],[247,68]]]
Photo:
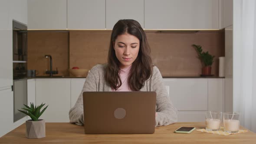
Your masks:
[[[213,64],[213,58],[215,56],[210,55],[208,51],[203,52],[200,45],[193,44],[192,46],[197,50],[198,58],[203,64],[202,75],[211,75],[211,65]]]

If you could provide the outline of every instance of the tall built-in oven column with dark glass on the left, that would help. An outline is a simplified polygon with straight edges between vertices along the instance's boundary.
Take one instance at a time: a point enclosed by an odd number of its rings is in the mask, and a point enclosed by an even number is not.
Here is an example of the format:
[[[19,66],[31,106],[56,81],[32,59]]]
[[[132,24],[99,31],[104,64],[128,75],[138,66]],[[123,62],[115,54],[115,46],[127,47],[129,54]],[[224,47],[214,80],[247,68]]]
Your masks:
[[[13,121],[26,115],[18,111],[27,105],[27,26],[13,20]]]

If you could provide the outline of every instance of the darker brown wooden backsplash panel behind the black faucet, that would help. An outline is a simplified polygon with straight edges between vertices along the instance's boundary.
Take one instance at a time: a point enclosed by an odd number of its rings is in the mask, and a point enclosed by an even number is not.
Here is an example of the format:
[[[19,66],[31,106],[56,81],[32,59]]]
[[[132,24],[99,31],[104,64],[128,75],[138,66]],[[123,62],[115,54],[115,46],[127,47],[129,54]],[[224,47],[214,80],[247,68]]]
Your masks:
[[[53,70],[58,75],[69,75],[69,33],[66,31],[28,31],[28,69],[36,69],[38,75],[50,69],[49,54],[53,58]]]

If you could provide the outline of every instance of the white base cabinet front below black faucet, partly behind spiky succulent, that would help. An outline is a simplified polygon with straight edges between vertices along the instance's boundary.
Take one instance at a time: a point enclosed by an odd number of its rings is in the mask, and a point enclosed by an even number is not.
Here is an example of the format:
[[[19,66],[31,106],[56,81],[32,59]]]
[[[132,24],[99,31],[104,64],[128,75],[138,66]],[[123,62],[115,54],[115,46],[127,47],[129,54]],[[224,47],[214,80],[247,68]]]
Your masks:
[[[41,119],[69,122],[70,79],[36,79],[36,105],[49,105]]]

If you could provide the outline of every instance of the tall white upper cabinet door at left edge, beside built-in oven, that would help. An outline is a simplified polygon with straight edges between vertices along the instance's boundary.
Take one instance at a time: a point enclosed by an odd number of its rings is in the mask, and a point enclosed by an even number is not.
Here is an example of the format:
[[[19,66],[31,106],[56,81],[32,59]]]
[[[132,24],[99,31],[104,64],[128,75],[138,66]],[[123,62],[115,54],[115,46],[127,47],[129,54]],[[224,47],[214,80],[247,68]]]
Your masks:
[[[13,85],[11,1],[0,0],[0,90]]]

